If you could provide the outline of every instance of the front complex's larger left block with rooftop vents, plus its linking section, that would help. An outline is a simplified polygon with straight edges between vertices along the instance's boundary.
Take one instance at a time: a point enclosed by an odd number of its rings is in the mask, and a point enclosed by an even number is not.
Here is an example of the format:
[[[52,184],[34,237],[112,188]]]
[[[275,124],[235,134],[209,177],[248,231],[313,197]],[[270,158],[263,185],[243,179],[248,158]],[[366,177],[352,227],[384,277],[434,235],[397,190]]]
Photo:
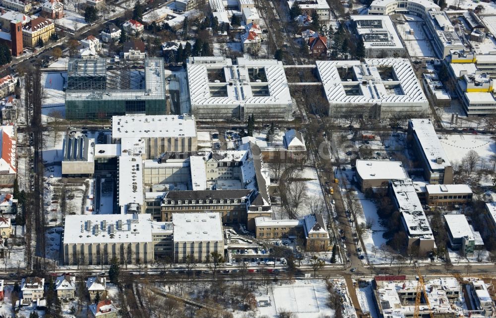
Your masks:
[[[62,234],[66,265],[108,265],[113,258],[128,264],[152,263],[172,251],[172,223],[156,222],[150,214],[67,215]]]

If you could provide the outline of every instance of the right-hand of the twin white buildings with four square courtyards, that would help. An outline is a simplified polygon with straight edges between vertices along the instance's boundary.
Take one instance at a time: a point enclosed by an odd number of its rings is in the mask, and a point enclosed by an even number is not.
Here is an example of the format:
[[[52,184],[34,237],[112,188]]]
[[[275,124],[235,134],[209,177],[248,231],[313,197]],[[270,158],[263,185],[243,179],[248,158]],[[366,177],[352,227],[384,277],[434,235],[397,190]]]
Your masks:
[[[356,112],[368,118],[392,114],[427,114],[429,102],[409,60],[369,58],[361,61],[316,61],[329,114]]]

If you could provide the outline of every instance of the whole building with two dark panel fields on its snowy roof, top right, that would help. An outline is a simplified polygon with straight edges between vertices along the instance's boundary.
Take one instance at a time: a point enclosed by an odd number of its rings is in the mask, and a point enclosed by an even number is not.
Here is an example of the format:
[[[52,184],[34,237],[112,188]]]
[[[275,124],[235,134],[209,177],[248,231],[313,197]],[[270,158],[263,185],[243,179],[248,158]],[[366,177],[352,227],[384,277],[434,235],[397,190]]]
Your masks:
[[[401,44],[393,21],[387,15],[352,15],[356,32],[364,41],[367,57],[402,57],[406,50]]]

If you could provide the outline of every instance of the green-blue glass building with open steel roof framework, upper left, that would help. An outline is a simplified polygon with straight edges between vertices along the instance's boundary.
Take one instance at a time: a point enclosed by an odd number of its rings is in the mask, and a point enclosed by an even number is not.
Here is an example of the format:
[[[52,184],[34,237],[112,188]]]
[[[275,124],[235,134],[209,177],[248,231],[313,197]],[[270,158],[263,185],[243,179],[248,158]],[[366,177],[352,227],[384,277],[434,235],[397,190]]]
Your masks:
[[[67,119],[166,113],[162,58],[70,59],[66,87]]]

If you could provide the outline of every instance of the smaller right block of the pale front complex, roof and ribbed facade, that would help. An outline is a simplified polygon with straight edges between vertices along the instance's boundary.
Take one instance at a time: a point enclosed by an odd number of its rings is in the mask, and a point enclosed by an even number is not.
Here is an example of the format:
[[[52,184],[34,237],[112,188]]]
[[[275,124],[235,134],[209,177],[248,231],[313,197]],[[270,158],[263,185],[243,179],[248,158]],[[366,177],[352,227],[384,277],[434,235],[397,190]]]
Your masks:
[[[204,262],[211,253],[224,255],[222,219],[216,212],[174,213],[174,259],[191,255]]]

